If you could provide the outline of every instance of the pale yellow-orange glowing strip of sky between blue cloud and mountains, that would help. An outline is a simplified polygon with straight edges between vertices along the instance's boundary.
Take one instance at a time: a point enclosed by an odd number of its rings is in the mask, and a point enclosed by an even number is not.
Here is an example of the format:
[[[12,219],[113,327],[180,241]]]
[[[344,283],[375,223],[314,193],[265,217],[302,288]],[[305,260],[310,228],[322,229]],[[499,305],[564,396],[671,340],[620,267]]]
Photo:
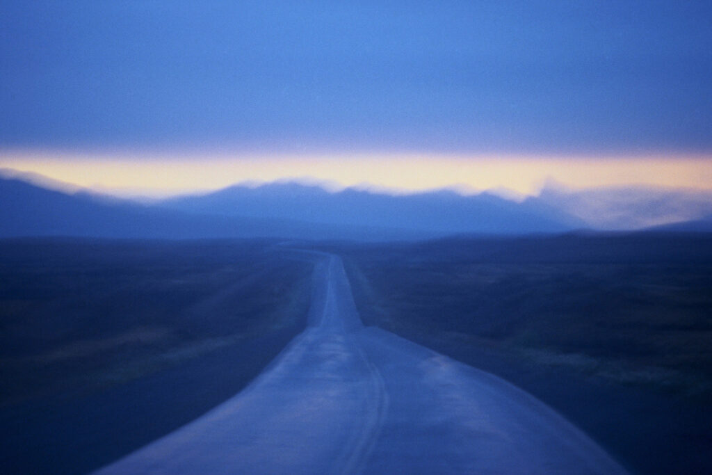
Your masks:
[[[333,188],[372,186],[399,192],[456,187],[537,194],[547,180],[581,189],[644,184],[712,189],[712,157],[543,157],[525,155],[177,156],[0,155],[0,167],[33,172],[120,195],[167,196],[239,182],[310,179]]]

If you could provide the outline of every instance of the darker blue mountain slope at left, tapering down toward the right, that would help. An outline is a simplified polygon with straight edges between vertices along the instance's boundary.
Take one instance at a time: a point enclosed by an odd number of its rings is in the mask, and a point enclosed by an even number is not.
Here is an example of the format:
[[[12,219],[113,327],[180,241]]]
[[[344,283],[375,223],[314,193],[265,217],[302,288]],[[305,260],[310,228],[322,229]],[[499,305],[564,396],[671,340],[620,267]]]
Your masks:
[[[0,237],[85,236],[136,239],[278,237],[407,239],[402,231],[315,225],[288,219],[187,214],[88,192],[60,192],[0,178]],[[422,237],[422,236],[419,236]]]

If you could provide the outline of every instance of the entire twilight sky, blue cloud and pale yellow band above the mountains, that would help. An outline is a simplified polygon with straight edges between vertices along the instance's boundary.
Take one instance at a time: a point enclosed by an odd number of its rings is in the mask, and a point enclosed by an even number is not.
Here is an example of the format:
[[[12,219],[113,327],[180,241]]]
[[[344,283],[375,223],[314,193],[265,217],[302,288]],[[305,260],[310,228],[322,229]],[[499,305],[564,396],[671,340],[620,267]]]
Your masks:
[[[78,184],[712,187],[709,1],[4,0],[0,81],[0,166]]]

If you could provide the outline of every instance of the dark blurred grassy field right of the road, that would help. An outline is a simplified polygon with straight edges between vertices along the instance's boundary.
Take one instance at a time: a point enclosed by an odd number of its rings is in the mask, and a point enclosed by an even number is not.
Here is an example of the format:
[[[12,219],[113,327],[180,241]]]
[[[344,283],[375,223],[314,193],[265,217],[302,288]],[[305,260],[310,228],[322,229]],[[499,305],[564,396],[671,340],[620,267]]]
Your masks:
[[[333,250],[365,323],[523,387],[633,471],[712,469],[712,236]]]

